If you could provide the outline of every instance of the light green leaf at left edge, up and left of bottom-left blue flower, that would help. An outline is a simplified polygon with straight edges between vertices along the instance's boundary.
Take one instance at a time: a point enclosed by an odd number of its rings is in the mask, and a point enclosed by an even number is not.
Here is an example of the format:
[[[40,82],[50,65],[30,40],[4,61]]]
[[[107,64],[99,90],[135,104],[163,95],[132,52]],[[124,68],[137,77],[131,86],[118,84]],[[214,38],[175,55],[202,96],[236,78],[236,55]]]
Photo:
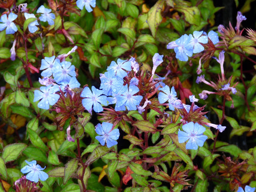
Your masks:
[[[4,162],[7,163],[16,160],[26,147],[27,145],[25,143],[13,143],[5,146],[2,155]]]

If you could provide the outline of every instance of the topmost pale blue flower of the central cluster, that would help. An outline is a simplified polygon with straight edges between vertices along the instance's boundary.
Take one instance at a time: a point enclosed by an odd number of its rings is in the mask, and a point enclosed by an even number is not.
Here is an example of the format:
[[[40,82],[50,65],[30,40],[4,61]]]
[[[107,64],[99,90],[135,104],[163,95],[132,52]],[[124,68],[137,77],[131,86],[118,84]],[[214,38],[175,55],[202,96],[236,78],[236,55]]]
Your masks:
[[[116,76],[124,78],[127,76],[127,72],[125,71],[131,71],[131,62],[127,60],[121,60],[117,59],[117,63],[115,61],[112,61],[110,63],[110,66],[107,68],[107,71],[111,71],[114,73]]]

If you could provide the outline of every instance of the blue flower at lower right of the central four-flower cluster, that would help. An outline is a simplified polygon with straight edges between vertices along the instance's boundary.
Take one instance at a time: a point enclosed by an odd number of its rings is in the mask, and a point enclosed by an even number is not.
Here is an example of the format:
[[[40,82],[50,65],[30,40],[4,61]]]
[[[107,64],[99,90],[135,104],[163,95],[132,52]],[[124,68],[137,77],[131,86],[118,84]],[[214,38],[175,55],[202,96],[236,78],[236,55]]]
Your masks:
[[[122,87],[121,95],[116,96],[116,106],[126,106],[127,110],[137,110],[137,106],[140,105],[140,101],[142,100],[141,95],[134,95],[138,93],[140,90],[135,85],[130,85],[129,89],[127,84]]]

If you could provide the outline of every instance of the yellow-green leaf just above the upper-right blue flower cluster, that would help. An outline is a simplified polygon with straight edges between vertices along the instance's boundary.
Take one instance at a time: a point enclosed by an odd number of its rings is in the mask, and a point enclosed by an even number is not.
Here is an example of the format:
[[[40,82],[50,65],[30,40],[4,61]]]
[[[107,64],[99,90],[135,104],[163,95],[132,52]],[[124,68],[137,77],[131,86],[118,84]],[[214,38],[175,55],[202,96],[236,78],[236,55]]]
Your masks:
[[[175,9],[179,12],[185,14],[185,20],[188,21],[191,25],[199,26],[201,23],[200,11],[198,7],[183,7],[175,6]]]

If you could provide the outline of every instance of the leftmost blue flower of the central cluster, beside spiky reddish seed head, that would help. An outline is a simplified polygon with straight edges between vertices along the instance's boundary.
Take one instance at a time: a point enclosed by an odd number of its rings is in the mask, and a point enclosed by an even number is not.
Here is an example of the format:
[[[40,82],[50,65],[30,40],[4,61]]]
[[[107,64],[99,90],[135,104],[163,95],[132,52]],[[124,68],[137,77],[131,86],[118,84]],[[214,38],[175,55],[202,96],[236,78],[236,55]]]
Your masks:
[[[107,96],[102,94],[103,91],[96,89],[94,86],[92,86],[92,91],[89,89],[89,87],[84,87],[84,90],[81,93],[81,97],[84,98],[82,99],[82,104],[84,108],[90,112],[93,106],[93,110],[96,113],[100,113],[101,111],[103,111],[100,103],[103,105],[108,105],[108,103]]]

